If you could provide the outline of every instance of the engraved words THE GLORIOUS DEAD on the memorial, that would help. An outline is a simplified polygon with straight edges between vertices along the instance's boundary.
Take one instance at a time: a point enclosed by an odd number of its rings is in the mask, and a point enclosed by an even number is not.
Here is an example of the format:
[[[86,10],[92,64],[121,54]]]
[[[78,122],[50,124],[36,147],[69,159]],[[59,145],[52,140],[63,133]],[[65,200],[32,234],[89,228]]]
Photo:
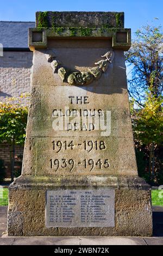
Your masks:
[[[92,108],[91,105],[92,100],[89,96],[72,96],[72,94],[66,97],[64,108],[62,104],[56,103],[52,109],[53,130],[67,131],[66,136],[76,136],[80,132],[82,136],[88,135],[89,132],[91,135],[96,133],[109,136],[111,110],[95,108],[95,105]]]

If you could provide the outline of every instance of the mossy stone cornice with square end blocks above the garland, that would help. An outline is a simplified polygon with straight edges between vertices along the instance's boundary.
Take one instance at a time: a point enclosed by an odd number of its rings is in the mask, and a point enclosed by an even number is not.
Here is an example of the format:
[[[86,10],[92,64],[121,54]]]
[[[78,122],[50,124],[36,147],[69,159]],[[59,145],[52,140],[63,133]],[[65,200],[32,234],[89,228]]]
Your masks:
[[[89,28],[89,32],[82,29],[87,28],[29,28],[28,44],[30,50],[35,48],[47,48],[48,38],[70,38],[70,39],[112,39],[112,49],[129,50],[131,46],[130,28]],[[85,35],[86,34],[86,35]]]

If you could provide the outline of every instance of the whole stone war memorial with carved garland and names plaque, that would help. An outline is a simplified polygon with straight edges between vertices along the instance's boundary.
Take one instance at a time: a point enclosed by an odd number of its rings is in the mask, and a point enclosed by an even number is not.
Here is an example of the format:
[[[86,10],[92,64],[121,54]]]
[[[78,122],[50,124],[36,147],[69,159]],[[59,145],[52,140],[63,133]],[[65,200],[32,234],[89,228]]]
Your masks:
[[[9,236],[152,236],[138,176],[124,13],[46,11],[29,29],[31,96]]]

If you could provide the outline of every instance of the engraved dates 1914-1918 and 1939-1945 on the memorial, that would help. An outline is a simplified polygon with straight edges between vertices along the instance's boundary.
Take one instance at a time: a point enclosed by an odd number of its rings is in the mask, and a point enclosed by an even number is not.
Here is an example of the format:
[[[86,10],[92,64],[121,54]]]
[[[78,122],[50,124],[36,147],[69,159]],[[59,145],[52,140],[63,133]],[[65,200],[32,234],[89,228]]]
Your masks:
[[[112,143],[105,138],[39,138],[37,175],[42,175],[45,170],[51,176],[110,175],[116,168],[115,159],[110,158],[108,153],[110,147]],[[116,158],[117,152],[114,148],[112,152]]]

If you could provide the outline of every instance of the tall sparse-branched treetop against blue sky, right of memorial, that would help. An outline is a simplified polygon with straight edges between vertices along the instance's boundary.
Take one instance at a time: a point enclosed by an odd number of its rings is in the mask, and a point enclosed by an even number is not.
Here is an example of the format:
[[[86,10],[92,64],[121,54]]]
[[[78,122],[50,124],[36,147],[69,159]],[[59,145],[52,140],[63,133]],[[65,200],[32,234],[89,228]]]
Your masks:
[[[160,26],[147,24],[135,33],[131,48],[126,52],[129,95],[140,106],[144,105],[145,92],[155,97],[162,94],[163,86],[163,33]]]

